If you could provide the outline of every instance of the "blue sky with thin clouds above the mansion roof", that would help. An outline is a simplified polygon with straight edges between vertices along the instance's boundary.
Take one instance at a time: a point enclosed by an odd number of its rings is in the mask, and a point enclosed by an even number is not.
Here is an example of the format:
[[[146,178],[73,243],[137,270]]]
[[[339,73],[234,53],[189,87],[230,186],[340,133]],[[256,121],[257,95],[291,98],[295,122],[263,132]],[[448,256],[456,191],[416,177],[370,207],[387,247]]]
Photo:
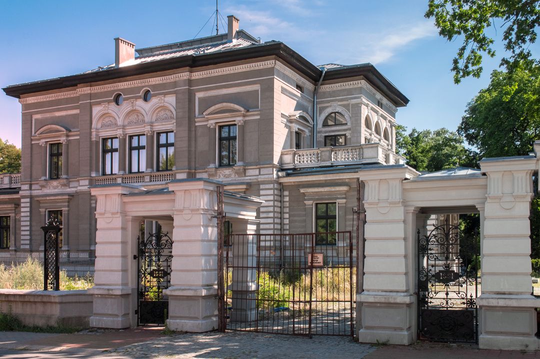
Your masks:
[[[456,130],[465,105],[498,67],[498,58],[487,58],[482,78],[455,85],[449,69],[461,42],[437,35],[423,16],[427,0],[220,0],[219,8],[224,18],[239,17],[241,29],[281,40],[316,65],[374,64],[410,99],[396,115],[409,130]],[[3,2],[0,87],[111,64],[114,37],[137,48],[191,39],[214,9],[213,0]],[[208,23],[199,37],[211,32]],[[498,35],[501,55],[502,30]],[[532,49],[537,55],[538,45]],[[21,106],[3,92],[0,138],[21,145]]]

